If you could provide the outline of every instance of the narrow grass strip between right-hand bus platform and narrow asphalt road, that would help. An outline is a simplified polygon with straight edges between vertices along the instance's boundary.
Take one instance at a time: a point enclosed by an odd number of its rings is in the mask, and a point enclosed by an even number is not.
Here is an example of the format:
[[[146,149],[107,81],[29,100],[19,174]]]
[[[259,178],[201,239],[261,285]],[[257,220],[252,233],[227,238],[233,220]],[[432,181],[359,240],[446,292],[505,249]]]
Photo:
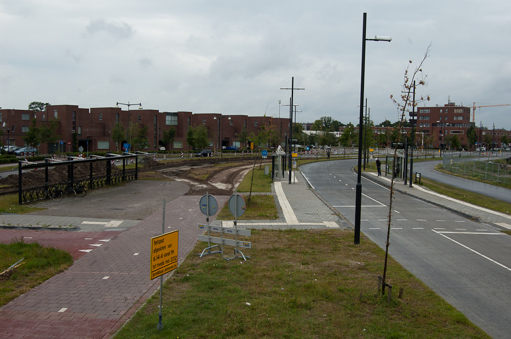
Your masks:
[[[432,191],[435,191],[436,193],[440,193],[461,201],[469,202],[474,205],[489,208],[490,210],[505,214],[509,214],[509,211],[511,211],[510,203],[490,198],[482,194],[466,191],[447,184],[441,184],[440,182],[426,178],[421,178],[421,185],[429,188]]]

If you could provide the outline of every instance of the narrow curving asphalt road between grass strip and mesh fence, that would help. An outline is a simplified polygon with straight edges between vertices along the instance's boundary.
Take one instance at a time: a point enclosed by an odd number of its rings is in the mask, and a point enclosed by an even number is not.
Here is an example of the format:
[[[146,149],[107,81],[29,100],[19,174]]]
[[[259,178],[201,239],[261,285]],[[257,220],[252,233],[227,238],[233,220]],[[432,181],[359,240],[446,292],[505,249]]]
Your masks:
[[[510,189],[435,171],[434,167],[441,162],[439,160],[413,163],[413,172],[421,173],[424,178],[511,203]]]

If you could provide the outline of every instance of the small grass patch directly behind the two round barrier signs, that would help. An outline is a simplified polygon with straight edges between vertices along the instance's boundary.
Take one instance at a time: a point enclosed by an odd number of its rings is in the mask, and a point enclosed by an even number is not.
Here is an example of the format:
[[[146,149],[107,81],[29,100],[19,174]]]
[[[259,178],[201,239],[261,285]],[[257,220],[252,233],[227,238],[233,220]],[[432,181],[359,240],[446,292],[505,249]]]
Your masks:
[[[278,219],[277,208],[272,195],[252,195],[250,201],[248,196],[245,196],[245,214],[238,217],[238,220],[263,220],[263,219]],[[228,204],[222,208],[217,220],[234,220],[234,216],[229,212]]]

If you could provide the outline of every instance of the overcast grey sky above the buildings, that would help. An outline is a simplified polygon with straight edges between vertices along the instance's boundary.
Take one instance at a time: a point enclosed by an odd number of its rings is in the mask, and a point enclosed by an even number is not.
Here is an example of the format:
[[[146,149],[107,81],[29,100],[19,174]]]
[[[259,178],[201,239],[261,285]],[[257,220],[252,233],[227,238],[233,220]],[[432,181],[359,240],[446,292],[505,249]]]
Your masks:
[[[358,122],[362,18],[371,119],[432,43],[417,95],[428,106],[511,104],[509,1],[0,0],[0,107],[142,102],[160,112],[278,116],[294,76],[297,121]],[[424,106],[422,104],[421,106]],[[126,108],[124,107],[123,110]],[[476,124],[511,129],[511,106]],[[289,116],[282,107],[281,117]],[[471,114],[472,119],[472,114]]]

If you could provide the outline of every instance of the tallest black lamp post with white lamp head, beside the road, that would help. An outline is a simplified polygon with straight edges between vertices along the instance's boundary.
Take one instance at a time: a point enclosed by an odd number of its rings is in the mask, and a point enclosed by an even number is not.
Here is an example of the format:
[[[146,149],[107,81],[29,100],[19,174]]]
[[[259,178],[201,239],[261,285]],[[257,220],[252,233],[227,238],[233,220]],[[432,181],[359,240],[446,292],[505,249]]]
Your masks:
[[[391,37],[387,36],[375,36],[374,39],[367,39],[365,37],[365,27],[367,21],[367,13],[364,13],[363,28],[362,28],[362,72],[360,79],[360,123],[359,126],[363,126],[364,122],[364,76],[365,76],[365,41],[388,41],[392,40]],[[362,209],[362,133],[358,134],[358,171],[357,171],[357,190],[355,197],[355,245],[360,244],[360,215]]]

